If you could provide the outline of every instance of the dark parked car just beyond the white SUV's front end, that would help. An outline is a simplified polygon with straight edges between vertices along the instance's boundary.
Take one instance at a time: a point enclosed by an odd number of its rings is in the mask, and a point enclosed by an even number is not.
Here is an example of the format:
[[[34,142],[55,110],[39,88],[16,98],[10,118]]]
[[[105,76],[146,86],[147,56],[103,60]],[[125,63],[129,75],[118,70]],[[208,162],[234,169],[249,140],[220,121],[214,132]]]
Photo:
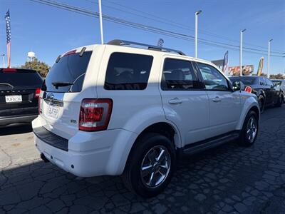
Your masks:
[[[264,107],[275,105],[281,106],[284,103],[284,93],[274,86],[274,83],[264,76],[234,76],[230,80],[241,81],[244,83],[245,89],[249,93],[254,93],[259,99],[260,111],[264,111]]]

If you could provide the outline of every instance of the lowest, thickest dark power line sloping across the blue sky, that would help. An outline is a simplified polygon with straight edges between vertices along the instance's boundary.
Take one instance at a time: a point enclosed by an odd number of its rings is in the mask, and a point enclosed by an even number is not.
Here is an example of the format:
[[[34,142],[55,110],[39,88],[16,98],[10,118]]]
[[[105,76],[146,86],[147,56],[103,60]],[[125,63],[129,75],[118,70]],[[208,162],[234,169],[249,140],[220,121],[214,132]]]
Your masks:
[[[53,6],[53,7],[56,7],[58,9],[73,11],[75,13],[82,14],[85,16],[92,16],[92,17],[96,17],[96,18],[98,18],[98,16],[99,16],[98,12],[88,11],[86,9],[82,9],[82,8],[79,8],[76,6],[71,6],[68,4],[58,3],[56,1],[47,1],[47,0],[30,0],[30,1],[34,1],[34,2],[37,2],[39,4],[45,4],[48,6]],[[180,34],[180,33],[174,32],[174,31],[167,31],[167,30],[160,29],[160,28],[153,27],[153,26],[138,24],[135,22],[127,21],[125,19],[119,19],[119,18],[116,18],[113,16],[103,15],[103,19],[105,19],[107,21],[111,21],[111,22],[116,23],[116,24],[123,24],[125,26],[130,26],[130,27],[133,27],[136,29],[142,29],[144,31],[150,31],[150,32],[162,34],[165,36],[171,36],[171,37],[174,37],[177,39],[183,39],[183,40],[187,40],[187,41],[193,41],[193,39],[194,39],[193,36],[190,36],[187,34]],[[239,49],[237,49],[237,48],[239,48],[239,46],[234,46],[232,44],[224,44],[224,43],[220,43],[217,41],[210,41],[207,39],[199,39],[199,44],[205,44],[205,45],[209,45],[209,46],[216,46],[216,47],[222,47],[222,48],[227,48],[227,49],[239,51]],[[249,49],[249,48],[244,48],[244,49]],[[254,51],[262,51],[262,50],[259,50],[259,49],[253,49],[253,50],[249,49],[249,50],[251,50],[251,51],[246,51],[246,50],[245,51],[252,53],[252,54],[263,55],[262,53],[254,52]],[[282,57],[282,56],[278,56],[278,55],[271,55],[271,56]]]

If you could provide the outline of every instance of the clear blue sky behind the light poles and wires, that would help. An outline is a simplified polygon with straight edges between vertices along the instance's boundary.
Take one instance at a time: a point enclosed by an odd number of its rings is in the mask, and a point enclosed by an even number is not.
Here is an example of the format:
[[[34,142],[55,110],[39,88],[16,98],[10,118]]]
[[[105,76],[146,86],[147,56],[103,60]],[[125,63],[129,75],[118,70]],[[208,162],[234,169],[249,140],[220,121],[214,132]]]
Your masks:
[[[54,1],[98,11],[98,4],[94,3],[97,0]],[[247,29],[244,32],[245,47],[263,48],[266,51],[268,40],[273,39],[271,50],[285,53],[284,0],[102,0],[102,2],[103,14],[190,36],[194,36],[195,11],[201,9],[199,38],[239,46],[239,31]],[[23,64],[28,51],[36,52],[39,60],[52,65],[56,57],[64,51],[77,46],[100,43],[99,21],[96,18],[28,0],[0,0],[0,4],[0,17],[2,17],[0,19],[0,54],[6,54],[4,14],[7,9],[10,9],[12,66]],[[157,17],[160,21],[154,20]],[[169,24],[170,21],[180,24],[180,27]],[[103,29],[105,41],[125,39],[157,44],[157,40],[162,38],[165,41],[165,47],[180,49],[187,55],[194,55],[194,41],[176,39],[108,21],[103,21]],[[229,50],[229,66],[238,66],[239,51],[224,47],[198,44],[198,57],[207,60],[221,59],[227,50]],[[266,73],[266,52],[264,54],[244,52],[244,65],[253,64],[254,71],[257,71],[261,56],[264,56],[264,73]],[[270,68],[271,73],[284,73],[285,58],[272,56]]]

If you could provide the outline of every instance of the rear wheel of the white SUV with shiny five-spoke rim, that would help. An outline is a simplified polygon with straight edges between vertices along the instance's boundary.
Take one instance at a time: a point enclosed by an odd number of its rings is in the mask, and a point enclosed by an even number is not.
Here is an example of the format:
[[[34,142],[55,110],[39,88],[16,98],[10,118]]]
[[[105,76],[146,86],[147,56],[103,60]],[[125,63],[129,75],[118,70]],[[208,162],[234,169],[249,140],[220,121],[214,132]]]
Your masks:
[[[162,150],[165,150],[162,159],[157,161]],[[172,141],[159,133],[146,133],[135,142],[125,166],[123,181],[133,193],[142,198],[151,198],[161,193],[170,183],[175,164],[176,155]],[[145,170],[142,170],[143,165]],[[147,168],[148,166],[150,167]]]

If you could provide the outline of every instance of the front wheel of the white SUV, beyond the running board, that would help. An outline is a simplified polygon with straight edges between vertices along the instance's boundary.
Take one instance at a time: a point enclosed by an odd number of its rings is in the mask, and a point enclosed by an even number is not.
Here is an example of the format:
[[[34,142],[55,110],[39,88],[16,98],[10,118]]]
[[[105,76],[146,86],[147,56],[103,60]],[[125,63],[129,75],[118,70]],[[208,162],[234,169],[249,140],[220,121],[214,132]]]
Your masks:
[[[259,119],[257,113],[255,113],[254,111],[249,111],[249,113],[247,113],[246,118],[244,119],[242,131],[238,139],[239,145],[247,147],[252,146],[257,140],[258,131]]]

